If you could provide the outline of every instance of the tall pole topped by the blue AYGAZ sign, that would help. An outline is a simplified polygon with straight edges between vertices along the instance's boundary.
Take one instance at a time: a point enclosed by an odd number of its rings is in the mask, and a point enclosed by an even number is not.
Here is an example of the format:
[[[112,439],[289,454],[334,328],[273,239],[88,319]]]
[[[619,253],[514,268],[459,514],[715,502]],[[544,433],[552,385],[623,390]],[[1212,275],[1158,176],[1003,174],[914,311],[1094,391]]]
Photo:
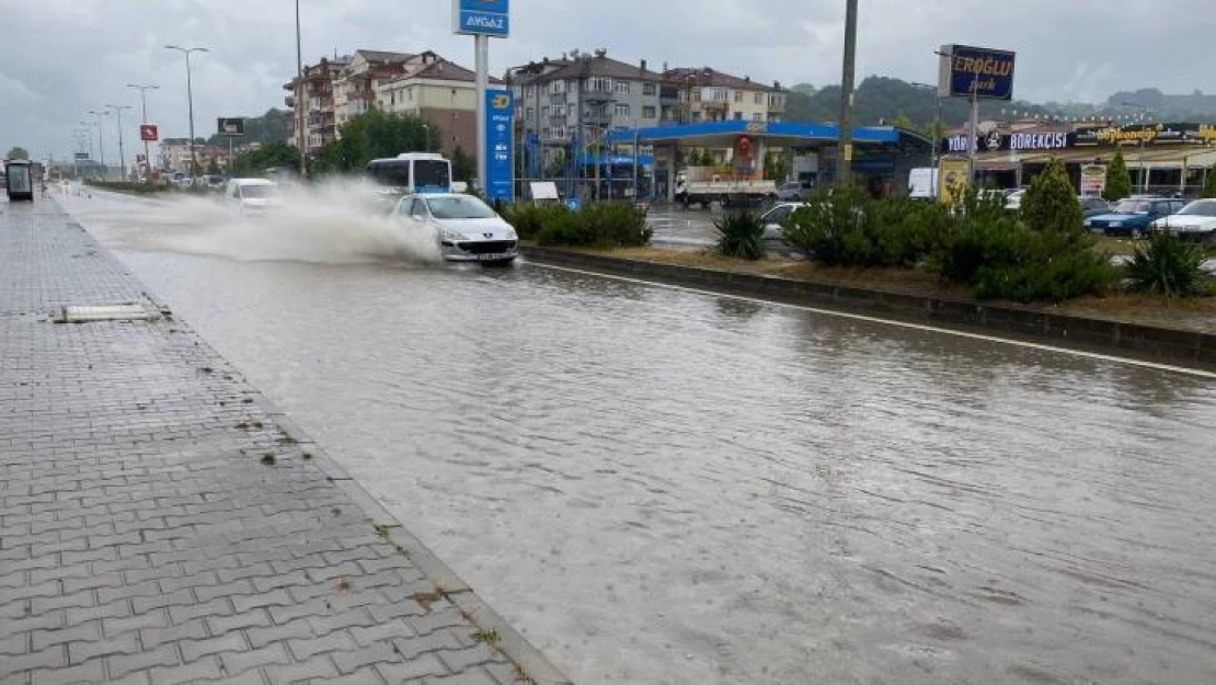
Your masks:
[[[477,71],[477,186],[485,192],[491,185],[489,169],[492,153],[488,145],[491,123],[486,113],[486,91],[490,88],[490,38],[507,38],[511,34],[511,1],[452,0],[452,32],[473,37]],[[511,169],[513,172],[513,164]]]

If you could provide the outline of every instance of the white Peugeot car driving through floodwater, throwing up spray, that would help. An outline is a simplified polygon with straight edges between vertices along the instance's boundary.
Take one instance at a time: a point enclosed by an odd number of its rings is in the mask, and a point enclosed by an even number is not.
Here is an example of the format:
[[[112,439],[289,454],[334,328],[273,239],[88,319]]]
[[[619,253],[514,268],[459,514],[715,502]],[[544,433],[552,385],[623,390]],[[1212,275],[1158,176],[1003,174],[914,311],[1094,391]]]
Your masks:
[[[447,262],[501,265],[519,254],[516,230],[472,195],[407,195],[396,203],[393,218],[411,230],[430,231]]]

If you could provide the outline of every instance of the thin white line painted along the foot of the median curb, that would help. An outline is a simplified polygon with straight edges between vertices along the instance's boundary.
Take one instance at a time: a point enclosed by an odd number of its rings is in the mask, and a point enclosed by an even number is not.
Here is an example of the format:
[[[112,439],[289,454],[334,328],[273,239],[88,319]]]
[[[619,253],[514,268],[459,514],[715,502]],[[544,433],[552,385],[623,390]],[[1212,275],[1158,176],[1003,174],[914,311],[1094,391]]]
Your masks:
[[[1195,376],[1195,377],[1199,377],[1199,378],[1216,380],[1216,372],[1204,371],[1204,370],[1200,370],[1200,369],[1189,369],[1187,366],[1173,366],[1171,364],[1160,364],[1160,363],[1156,363],[1156,361],[1143,361],[1143,360],[1139,360],[1139,359],[1132,359],[1132,358],[1127,358],[1127,356],[1116,356],[1116,355],[1113,355],[1113,354],[1102,354],[1102,353],[1098,353],[1098,352],[1086,352],[1086,350],[1082,350],[1082,349],[1070,349],[1070,348],[1066,348],[1066,347],[1055,347],[1055,346],[1051,346],[1051,344],[1032,343],[1032,342],[1025,342],[1025,341],[1018,341],[1018,339],[1010,339],[1010,338],[1002,338],[1002,337],[997,337],[997,336],[985,336],[983,333],[972,333],[972,332],[968,332],[968,331],[958,331],[958,330],[955,330],[955,329],[944,329],[944,327],[939,327],[939,326],[930,326],[930,325],[927,325],[927,324],[911,324],[908,321],[896,321],[894,319],[880,319],[878,316],[867,316],[865,314],[850,314],[848,311],[837,311],[837,310],[833,310],[833,309],[821,309],[818,307],[809,307],[809,305],[805,305],[805,304],[790,304],[788,302],[775,302],[775,301],[771,301],[771,299],[761,299],[759,297],[748,297],[748,296],[744,296],[744,294],[731,294],[731,293],[722,293],[722,292],[717,292],[717,291],[702,290],[702,288],[694,288],[694,287],[688,287],[688,286],[676,286],[676,285],[663,283],[663,282],[658,282],[658,281],[648,281],[646,279],[634,279],[634,277],[630,277],[630,276],[619,276],[619,275],[615,275],[615,274],[603,274],[603,273],[599,273],[599,271],[590,271],[590,270],[586,270],[586,269],[572,269],[569,266],[554,266],[552,264],[540,264],[537,262],[531,262],[531,260],[528,262],[528,265],[529,266],[540,266],[542,269],[553,269],[556,271],[568,271],[570,274],[582,274],[585,276],[597,276],[597,277],[601,277],[601,279],[613,279],[613,280],[617,280],[617,281],[625,281],[625,282],[630,282],[630,283],[647,285],[647,286],[653,286],[653,287],[659,287],[659,288],[666,288],[666,290],[674,290],[674,291],[680,291],[680,292],[689,292],[689,293],[696,293],[696,294],[708,294],[708,296],[713,296],[713,297],[725,297],[725,298],[730,298],[730,299],[737,299],[739,302],[753,302],[753,303],[756,303],[756,304],[769,304],[769,305],[772,305],[772,307],[782,307],[782,308],[786,308],[786,309],[798,309],[800,311],[810,311],[810,313],[814,313],[814,314],[822,314],[824,316],[837,316],[837,318],[840,318],[840,319],[851,319],[854,321],[866,321],[866,322],[869,322],[869,324],[883,324],[883,325],[886,325],[886,326],[896,326],[896,327],[900,327],[900,329],[911,329],[913,331],[927,331],[927,332],[933,332],[933,333],[945,333],[947,336],[955,336],[955,337],[959,337],[959,338],[968,338],[968,339],[974,339],[974,341],[992,342],[992,343],[1000,343],[1000,344],[1009,344],[1009,346],[1020,347],[1020,348],[1025,348],[1025,349],[1036,349],[1036,350],[1041,350],[1041,352],[1053,352],[1053,353],[1068,354],[1068,355],[1073,355],[1073,356],[1083,356],[1086,359],[1097,359],[1097,360],[1100,360],[1100,361],[1113,361],[1115,364],[1126,364],[1126,365],[1130,365],[1130,366],[1139,366],[1142,369],[1154,369],[1154,370],[1158,370],[1158,371],[1169,371],[1171,374],[1182,374],[1182,375],[1186,375],[1186,376]]]

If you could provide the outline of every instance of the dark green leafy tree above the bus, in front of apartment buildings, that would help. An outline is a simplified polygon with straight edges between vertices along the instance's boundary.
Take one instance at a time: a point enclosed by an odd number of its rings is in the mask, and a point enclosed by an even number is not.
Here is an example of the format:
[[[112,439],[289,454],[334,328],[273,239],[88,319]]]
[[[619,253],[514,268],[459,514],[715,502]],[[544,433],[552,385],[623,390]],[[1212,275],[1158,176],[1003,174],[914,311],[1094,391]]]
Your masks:
[[[427,148],[427,123],[372,110],[342,124],[340,137],[321,151],[319,172],[361,172],[372,159]]]

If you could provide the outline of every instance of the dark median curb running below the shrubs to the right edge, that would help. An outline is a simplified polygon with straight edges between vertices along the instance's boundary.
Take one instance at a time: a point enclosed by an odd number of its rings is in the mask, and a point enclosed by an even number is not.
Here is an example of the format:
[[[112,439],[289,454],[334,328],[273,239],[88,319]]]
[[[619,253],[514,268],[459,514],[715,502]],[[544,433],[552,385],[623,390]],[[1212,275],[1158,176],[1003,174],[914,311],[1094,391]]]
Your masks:
[[[1060,347],[1178,364],[1204,371],[1216,370],[1214,333],[1054,314],[1017,305],[985,304],[547,247],[522,247],[520,251],[528,259],[539,264],[587,269],[606,275],[714,290],[725,294],[744,294],[772,302],[983,332],[1009,339],[1052,342]]]

